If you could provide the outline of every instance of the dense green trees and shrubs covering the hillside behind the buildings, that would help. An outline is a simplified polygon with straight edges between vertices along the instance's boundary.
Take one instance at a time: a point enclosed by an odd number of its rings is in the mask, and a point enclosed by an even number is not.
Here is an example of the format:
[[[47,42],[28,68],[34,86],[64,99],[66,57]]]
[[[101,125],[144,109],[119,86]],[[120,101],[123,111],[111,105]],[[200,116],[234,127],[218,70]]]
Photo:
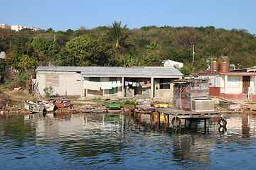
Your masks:
[[[192,63],[192,47],[195,46]],[[26,87],[38,66],[161,66],[163,60],[183,62],[181,72],[204,71],[208,61],[226,57],[237,68],[256,65],[256,37],[247,30],[208,27],[144,26],[129,29],[114,21],[111,26],[91,30],[6,30],[0,28],[0,50],[6,59],[0,67],[12,67],[13,77],[4,74],[3,86]],[[23,76],[25,75],[25,76]],[[26,77],[26,78],[25,78]]]

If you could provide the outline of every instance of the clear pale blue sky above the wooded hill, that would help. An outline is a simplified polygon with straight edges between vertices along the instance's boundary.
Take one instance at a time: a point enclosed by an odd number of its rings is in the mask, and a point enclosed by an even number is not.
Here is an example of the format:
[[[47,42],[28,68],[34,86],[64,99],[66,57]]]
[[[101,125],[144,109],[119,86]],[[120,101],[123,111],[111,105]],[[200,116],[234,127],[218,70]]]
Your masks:
[[[0,23],[43,30],[112,26],[245,29],[256,34],[255,0],[1,0]]]

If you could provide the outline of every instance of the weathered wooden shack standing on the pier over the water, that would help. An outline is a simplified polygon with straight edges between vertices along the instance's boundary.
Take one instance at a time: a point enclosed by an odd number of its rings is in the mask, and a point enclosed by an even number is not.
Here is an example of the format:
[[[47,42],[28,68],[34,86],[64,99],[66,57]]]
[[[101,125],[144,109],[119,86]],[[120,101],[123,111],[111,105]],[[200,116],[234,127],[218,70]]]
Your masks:
[[[209,98],[210,79],[180,79],[174,81],[174,108],[184,111],[214,111]]]

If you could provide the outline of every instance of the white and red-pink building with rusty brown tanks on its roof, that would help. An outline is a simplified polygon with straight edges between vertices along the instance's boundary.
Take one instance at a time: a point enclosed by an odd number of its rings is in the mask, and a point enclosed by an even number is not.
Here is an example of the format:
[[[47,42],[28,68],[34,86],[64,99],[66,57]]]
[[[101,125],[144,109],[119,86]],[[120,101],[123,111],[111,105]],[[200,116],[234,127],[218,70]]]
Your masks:
[[[256,67],[230,71],[228,63],[222,64],[225,65],[224,69],[220,64],[220,69],[214,68],[211,72],[200,72],[198,75],[199,79],[210,79],[209,95],[226,99],[256,101]]]

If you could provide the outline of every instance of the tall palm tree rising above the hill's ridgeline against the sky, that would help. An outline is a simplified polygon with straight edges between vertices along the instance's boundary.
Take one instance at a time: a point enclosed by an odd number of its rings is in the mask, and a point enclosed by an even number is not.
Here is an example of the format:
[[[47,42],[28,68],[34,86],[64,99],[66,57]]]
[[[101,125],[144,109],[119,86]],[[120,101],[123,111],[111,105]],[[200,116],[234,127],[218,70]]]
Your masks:
[[[118,23],[114,21],[112,27],[110,28],[110,39],[114,42],[114,48],[119,51],[124,45],[129,42],[128,39],[129,31],[127,25],[124,27],[121,26],[121,21]]]

